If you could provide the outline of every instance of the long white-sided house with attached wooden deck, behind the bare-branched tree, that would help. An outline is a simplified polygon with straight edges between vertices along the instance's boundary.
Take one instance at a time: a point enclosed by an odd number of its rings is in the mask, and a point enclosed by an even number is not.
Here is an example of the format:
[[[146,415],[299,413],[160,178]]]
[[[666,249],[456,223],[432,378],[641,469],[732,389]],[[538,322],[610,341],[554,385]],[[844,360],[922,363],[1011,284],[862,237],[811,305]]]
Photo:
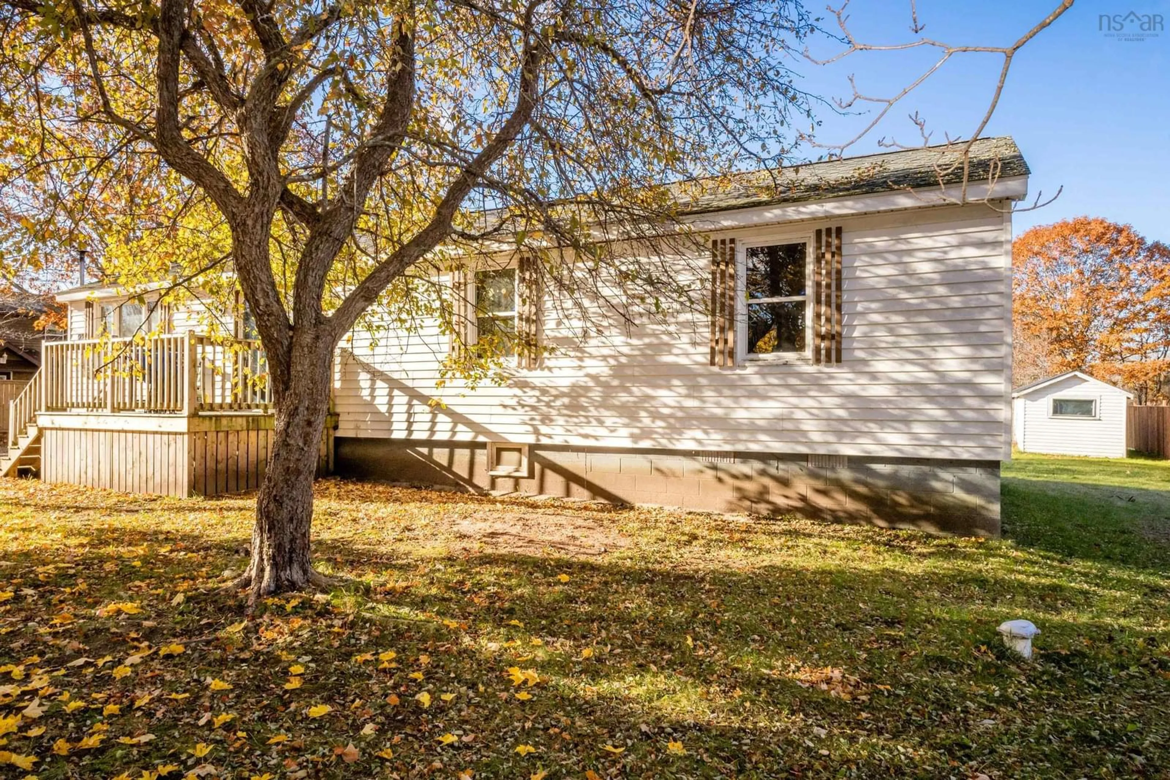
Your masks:
[[[596,302],[549,299],[523,255],[456,268],[441,282],[468,302],[457,338],[435,319],[343,341],[323,464],[996,534],[1011,454],[1011,206],[1028,168],[1010,138],[980,139],[966,194],[987,202],[957,205],[955,161],[932,147],[808,164],[686,202],[708,248],[679,274],[701,263],[710,308],[677,322],[613,320],[581,338],[574,306]],[[271,426],[255,345],[238,333],[243,346],[216,346],[173,311],[136,347],[152,368],[95,380],[87,343],[126,333],[143,298],[89,285],[60,299],[71,340],[46,354],[43,398],[26,413],[44,437],[43,478],[178,495],[254,484]],[[483,329],[542,352],[515,356],[498,386],[439,381],[450,350]]]

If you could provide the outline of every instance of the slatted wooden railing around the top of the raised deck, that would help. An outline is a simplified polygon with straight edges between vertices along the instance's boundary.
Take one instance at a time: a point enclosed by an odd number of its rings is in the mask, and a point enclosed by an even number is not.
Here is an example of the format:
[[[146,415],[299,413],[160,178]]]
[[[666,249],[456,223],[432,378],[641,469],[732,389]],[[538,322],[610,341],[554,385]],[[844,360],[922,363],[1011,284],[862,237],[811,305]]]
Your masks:
[[[199,414],[267,409],[259,341],[194,333],[46,344],[44,412]]]

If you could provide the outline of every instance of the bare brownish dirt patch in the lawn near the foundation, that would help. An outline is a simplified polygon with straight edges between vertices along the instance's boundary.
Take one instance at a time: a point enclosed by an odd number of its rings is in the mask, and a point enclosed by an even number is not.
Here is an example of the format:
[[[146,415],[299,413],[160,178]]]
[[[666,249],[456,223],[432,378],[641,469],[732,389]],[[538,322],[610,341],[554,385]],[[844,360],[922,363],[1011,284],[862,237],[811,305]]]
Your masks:
[[[556,551],[569,557],[593,557],[629,546],[605,518],[523,511],[480,512],[452,524],[455,547],[521,554]]]

